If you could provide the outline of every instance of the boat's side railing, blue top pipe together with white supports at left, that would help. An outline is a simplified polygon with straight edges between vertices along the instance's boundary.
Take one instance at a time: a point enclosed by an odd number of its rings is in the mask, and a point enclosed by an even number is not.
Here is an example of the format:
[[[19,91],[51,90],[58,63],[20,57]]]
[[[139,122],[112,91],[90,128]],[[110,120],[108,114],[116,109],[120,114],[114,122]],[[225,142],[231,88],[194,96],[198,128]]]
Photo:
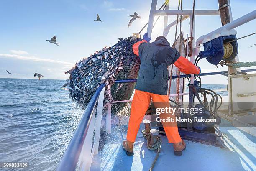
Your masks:
[[[252,72],[256,69],[241,71]],[[228,71],[202,73],[200,76],[218,74],[227,76]],[[180,77],[190,77],[190,74],[180,75]],[[176,78],[178,76],[172,76],[172,79]],[[115,83],[136,81],[137,79],[116,80]],[[93,155],[98,153],[105,85],[101,84],[93,94],[56,171],[75,171],[77,167],[81,171],[90,170]],[[95,109],[96,103],[97,110]]]

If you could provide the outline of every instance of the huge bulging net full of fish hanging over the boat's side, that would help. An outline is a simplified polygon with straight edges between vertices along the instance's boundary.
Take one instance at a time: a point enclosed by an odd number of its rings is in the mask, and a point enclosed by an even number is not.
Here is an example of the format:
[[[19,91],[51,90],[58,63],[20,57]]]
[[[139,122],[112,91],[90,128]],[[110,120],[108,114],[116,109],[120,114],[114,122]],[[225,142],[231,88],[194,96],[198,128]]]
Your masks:
[[[80,60],[75,68],[70,70],[69,80],[67,84],[64,84],[69,89],[72,101],[86,108],[102,83],[111,85],[111,96],[107,93],[108,91],[105,91],[105,99],[109,101],[129,100],[135,83],[114,84],[114,82],[138,77],[140,59],[133,53],[132,46],[141,40],[140,38],[126,38],[112,47],[105,47],[88,58]],[[113,104],[111,110],[116,113],[125,105],[125,103]]]

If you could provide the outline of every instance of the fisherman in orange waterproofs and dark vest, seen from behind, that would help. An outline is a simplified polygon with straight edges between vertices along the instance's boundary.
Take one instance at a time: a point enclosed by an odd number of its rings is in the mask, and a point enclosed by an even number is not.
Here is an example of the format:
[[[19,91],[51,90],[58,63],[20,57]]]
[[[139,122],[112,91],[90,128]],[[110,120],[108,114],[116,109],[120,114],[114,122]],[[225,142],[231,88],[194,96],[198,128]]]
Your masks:
[[[140,123],[150,105],[154,102],[156,108],[169,107],[167,95],[169,72],[167,67],[174,64],[185,74],[200,74],[200,67],[195,66],[188,59],[180,56],[176,48],[171,48],[164,36],[158,36],[149,43],[151,38],[145,33],[142,41],[133,45],[133,52],[139,56],[141,66],[135,86],[135,93],[131,105],[131,116],[128,123],[127,138],[123,141],[123,149],[127,155],[133,155],[133,143],[137,136]],[[161,113],[160,118],[174,118],[170,113]],[[162,122],[169,143],[173,143],[174,154],[182,155],[186,144],[180,138],[176,121]]]

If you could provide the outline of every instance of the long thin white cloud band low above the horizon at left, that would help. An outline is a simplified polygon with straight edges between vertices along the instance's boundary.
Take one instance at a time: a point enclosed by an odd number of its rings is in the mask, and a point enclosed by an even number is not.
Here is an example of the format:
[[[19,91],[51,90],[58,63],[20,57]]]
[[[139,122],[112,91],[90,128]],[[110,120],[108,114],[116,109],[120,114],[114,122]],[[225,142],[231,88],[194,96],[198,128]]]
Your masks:
[[[74,64],[65,61],[57,61],[53,59],[44,59],[38,58],[35,56],[20,56],[16,54],[0,54],[0,58],[15,58],[20,60],[30,60],[30,61],[37,61],[37,62],[50,62],[50,63],[58,63],[58,64],[65,64],[65,66],[74,66]]]

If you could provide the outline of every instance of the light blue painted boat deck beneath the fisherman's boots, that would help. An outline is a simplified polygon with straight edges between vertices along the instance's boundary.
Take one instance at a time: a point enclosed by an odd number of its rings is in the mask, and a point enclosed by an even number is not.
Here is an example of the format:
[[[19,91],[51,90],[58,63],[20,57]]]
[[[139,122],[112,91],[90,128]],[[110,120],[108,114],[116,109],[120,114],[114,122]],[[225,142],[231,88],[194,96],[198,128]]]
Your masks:
[[[94,156],[91,171],[148,171],[156,156],[156,151],[147,148],[141,130],[134,143],[134,156],[127,156],[122,148],[126,138],[127,125],[113,125],[104,148]],[[222,120],[226,148],[186,141],[187,148],[182,156],[174,156],[172,144],[161,136],[161,153],[154,171],[255,171],[256,137]]]

